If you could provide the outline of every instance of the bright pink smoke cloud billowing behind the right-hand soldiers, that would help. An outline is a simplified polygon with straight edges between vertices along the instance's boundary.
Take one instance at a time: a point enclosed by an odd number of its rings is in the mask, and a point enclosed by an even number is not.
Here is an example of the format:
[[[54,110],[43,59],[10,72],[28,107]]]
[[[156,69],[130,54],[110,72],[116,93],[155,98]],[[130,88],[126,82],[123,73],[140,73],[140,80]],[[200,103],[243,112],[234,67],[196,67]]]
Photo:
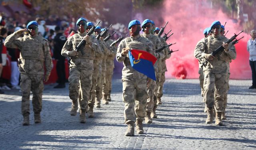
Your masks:
[[[230,38],[234,33],[239,33],[242,28],[219,8],[210,8],[206,0],[165,0],[164,1],[165,21],[169,24],[165,32],[172,29],[174,34],[167,40],[167,43],[175,43],[170,46],[172,53],[170,59],[166,60],[168,72],[167,78],[198,78],[198,60],[194,58],[194,49],[197,42],[204,37],[203,30],[215,20],[222,24],[226,23],[225,31],[229,30],[226,37]],[[164,25],[164,24],[163,24]],[[162,25],[162,26],[163,26]],[[249,54],[246,50],[247,41],[250,35],[242,33],[238,36],[244,38],[235,45],[237,58],[230,63],[230,78],[250,79],[251,70],[249,65]]]

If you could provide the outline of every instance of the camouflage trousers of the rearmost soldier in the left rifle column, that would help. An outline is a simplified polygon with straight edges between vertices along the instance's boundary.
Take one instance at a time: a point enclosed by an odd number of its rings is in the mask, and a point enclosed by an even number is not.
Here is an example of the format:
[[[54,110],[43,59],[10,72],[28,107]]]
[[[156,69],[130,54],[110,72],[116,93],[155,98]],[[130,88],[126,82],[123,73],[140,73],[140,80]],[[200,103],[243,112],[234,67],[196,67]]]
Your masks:
[[[112,90],[112,76],[114,70],[114,60],[106,59],[106,73],[104,77],[104,83],[102,87],[102,94],[110,95]]]

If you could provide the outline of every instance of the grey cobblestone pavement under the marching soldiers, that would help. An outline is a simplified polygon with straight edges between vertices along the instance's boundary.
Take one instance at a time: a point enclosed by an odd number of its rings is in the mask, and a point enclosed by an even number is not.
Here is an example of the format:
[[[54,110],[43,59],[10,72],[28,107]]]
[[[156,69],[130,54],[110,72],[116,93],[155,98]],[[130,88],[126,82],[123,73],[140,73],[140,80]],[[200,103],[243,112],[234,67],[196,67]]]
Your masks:
[[[95,109],[95,118],[79,123],[70,116],[68,84],[65,89],[45,86],[42,123],[22,126],[18,90],[0,95],[0,149],[246,149],[256,148],[256,89],[251,80],[230,80],[224,126],[206,125],[199,80],[169,79],[164,86],[158,119],[144,124],[145,134],[124,136],[122,83],[113,80],[112,101]],[[30,96],[32,97],[32,96]]]

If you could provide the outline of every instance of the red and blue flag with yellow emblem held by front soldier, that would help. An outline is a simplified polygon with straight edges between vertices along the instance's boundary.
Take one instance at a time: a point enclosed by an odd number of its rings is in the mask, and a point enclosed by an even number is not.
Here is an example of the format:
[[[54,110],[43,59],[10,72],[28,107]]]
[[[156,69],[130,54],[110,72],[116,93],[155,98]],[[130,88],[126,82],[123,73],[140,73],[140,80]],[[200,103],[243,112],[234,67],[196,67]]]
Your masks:
[[[149,52],[143,50],[130,50],[129,58],[136,71],[145,74],[148,78],[156,80],[156,74],[154,70],[154,64],[156,63],[156,57]]]

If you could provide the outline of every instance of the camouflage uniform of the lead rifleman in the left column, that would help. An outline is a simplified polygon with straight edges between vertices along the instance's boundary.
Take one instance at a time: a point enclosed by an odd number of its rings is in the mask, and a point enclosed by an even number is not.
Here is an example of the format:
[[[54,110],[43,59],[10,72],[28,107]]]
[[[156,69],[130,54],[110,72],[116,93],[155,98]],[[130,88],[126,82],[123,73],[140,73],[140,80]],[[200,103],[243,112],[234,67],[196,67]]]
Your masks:
[[[86,36],[86,32],[77,33],[68,38],[62,48],[62,56],[69,57],[68,52],[74,50],[76,46]],[[76,102],[79,96],[79,87],[81,92],[81,99],[79,100],[80,110],[86,111],[90,96],[90,89],[92,86],[92,72],[93,60],[95,59],[95,52],[101,53],[98,47],[98,41],[90,35],[92,45],[88,44],[84,47],[84,55],[78,52],[77,56],[70,56],[70,73],[69,73],[69,97],[73,102]]]

